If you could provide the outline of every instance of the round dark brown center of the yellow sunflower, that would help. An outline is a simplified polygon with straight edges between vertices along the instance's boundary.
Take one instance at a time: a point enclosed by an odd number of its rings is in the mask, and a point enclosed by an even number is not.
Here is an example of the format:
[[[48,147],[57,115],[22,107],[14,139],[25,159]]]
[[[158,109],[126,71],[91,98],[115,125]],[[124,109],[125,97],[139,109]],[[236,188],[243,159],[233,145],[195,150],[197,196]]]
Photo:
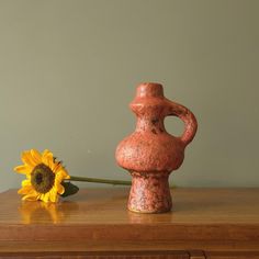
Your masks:
[[[49,167],[40,164],[34,167],[31,177],[31,183],[40,193],[47,193],[54,184],[55,174]]]

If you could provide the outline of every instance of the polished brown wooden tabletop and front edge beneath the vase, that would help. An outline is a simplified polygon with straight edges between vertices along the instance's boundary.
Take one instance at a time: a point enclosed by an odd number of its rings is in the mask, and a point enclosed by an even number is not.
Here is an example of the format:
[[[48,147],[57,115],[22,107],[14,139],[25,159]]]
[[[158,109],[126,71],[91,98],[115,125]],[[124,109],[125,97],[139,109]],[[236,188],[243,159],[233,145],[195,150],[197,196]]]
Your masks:
[[[0,258],[259,258],[259,189],[173,189],[173,210],[126,210],[128,189],[58,204],[0,194]]]

